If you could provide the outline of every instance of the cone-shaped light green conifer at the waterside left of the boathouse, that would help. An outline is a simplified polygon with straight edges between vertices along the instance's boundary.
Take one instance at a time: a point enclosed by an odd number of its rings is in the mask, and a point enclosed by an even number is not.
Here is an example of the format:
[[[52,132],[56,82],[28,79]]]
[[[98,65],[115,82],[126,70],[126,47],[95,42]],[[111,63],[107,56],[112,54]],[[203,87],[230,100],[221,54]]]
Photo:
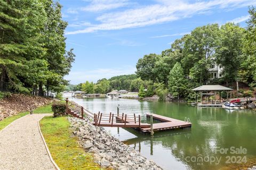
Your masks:
[[[187,82],[181,64],[177,62],[173,66],[169,75],[168,87],[172,96],[178,97],[178,99],[180,99],[180,97],[185,94],[186,84]]]

